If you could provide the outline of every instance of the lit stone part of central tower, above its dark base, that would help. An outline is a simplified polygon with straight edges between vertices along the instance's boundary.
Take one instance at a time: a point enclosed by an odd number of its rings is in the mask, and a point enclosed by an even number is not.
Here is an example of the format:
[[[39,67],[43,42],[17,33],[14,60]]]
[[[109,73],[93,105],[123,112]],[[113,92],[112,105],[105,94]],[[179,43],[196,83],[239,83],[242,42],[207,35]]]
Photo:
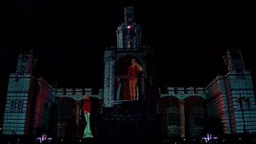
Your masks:
[[[141,27],[134,22],[133,7],[125,8],[124,21],[117,27],[117,47],[107,48],[104,55],[104,106],[139,101],[155,107],[154,51],[141,47]]]

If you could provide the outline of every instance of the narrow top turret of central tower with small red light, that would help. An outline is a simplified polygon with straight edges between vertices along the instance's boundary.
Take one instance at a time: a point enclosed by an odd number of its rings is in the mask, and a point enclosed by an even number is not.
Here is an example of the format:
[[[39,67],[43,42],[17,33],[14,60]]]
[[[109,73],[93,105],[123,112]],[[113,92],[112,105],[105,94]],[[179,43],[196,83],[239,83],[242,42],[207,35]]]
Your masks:
[[[140,48],[141,27],[134,22],[133,7],[125,8],[125,22],[117,27],[117,48]]]

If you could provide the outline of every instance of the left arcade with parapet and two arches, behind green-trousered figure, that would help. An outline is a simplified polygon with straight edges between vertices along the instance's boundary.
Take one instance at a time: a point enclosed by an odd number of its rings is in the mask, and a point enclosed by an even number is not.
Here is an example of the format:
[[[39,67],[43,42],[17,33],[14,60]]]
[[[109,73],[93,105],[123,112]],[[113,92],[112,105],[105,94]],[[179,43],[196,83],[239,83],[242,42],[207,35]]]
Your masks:
[[[103,89],[58,88],[56,102],[60,112],[57,137],[83,137],[86,124],[83,115],[84,95],[89,96],[91,101],[91,131],[93,135],[96,133],[96,117],[102,111]]]

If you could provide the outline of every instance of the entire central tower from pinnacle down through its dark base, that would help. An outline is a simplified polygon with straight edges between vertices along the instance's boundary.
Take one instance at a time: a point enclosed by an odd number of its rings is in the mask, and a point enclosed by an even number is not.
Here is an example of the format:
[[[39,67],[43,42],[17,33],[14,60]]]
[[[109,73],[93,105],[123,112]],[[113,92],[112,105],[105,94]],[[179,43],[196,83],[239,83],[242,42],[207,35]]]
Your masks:
[[[134,22],[132,7],[125,8],[124,21],[117,27],[117,46],[104,53],[104,130],[100,135],[145,140],[160,133],[154,50],[141,47],[141,27]]]

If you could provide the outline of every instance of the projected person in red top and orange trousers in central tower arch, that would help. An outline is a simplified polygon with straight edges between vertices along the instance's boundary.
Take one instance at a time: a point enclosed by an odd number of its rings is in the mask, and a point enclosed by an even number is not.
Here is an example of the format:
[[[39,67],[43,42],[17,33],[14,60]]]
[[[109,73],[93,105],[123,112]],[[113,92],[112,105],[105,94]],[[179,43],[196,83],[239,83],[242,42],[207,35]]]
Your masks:
[[[137,75],[139,74],[139,69],[135,65],[135,59],[131,60],[131,66],[129,67],[128,75],[129,77],[129,88],[131,100],[135,100],[136,97],[136,84],[137,84]]]

